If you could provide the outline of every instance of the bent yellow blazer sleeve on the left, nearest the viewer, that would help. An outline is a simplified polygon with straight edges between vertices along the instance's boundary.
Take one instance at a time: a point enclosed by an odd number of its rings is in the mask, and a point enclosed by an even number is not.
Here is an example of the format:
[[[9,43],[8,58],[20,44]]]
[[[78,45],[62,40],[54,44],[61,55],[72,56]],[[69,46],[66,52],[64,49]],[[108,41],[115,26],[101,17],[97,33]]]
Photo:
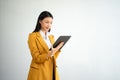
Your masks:
[[[43,62],[45,62],[45,60],[47,60],[47,54],[40,54],[40,52],[37,48],[37,44],[36,44],[35,39],[36,39],[35,33],[29,34],[28,46],[29,46],[33,60],[36,63],[43,63]]]

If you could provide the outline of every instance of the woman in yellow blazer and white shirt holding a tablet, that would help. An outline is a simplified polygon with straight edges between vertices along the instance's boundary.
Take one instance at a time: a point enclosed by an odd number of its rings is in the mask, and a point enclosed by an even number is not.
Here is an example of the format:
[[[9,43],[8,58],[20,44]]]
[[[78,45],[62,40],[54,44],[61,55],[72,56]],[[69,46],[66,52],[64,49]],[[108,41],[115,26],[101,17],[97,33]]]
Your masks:
[[[56,58],[64,43],[61,42],[56,48],[52,48],[54,36],[48,35],[52,22],[52,14],[43,11],[38,17],[35,30],[29,34],[28,45],[32,61],[27,80],[59,80]],[[50,48],[52,50],[49,50]]]

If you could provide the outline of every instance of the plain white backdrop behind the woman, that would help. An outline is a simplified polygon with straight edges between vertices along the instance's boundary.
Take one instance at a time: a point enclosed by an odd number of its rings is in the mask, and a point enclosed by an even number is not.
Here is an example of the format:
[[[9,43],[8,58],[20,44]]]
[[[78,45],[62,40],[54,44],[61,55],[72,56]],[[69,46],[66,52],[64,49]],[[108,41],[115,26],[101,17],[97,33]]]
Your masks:
[[[71,35],[57,59],[61,80],[120,80],[120,0],[0,0],[0,80],[27,80],[28,34],[39,14]]]

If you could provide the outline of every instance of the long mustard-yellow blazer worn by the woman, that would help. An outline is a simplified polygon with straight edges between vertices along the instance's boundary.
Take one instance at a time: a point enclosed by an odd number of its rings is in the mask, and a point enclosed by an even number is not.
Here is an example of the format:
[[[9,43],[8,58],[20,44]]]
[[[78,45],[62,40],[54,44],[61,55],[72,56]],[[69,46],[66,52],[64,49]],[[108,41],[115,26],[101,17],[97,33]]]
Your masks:
[[[49,36],[50,42],[54,43],[54,36]],[[32,55],[32,61],[27,80],[52,80],[53,64],[56,65],[56,58],[60,51],[54,55],[54,61],[50,57],[47,59],[49,48],[39,32],[29,34],[28,45]],[[59,80],[58,72],[55,67],[55,78]]]

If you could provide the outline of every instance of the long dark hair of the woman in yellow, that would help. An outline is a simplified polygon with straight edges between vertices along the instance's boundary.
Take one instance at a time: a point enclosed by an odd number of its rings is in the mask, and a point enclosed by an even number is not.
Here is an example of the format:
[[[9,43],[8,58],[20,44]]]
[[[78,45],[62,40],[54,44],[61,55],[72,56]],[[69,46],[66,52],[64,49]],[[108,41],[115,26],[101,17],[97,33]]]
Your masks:
[[[51,17],[53,19],[53,16],[52,16],[52,14],[50,12],[48,12],[48,11],[41,12],[39,17],[38,17],[38,20],[37,20],[36,28],[35,28],[35,30],[33,32],[40,31],[41,24],[39,23],[39,21],[42,21],[46,17]],[[50,32],[50,30],[49,30],[49,32]]]

